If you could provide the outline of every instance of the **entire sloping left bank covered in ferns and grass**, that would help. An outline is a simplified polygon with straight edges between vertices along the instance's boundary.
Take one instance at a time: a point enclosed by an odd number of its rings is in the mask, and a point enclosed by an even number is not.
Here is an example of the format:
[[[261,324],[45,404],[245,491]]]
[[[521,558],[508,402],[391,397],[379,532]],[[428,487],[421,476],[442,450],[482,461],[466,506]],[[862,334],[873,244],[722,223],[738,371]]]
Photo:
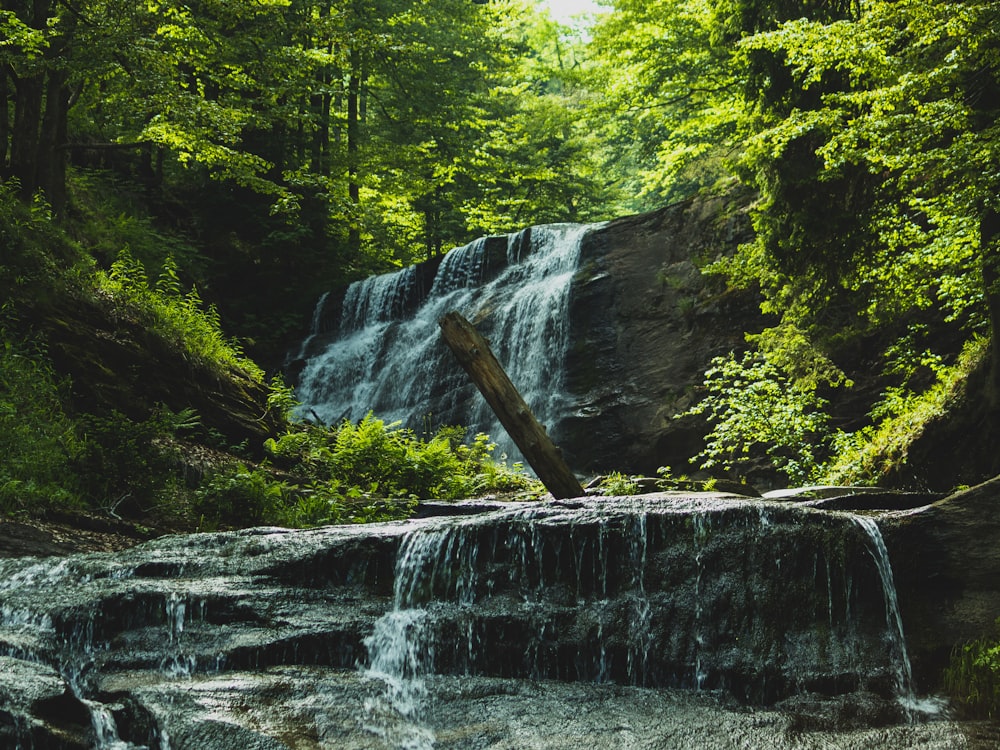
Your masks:
[[[280,379],[261,385],[261,368],[225,336],[197,289],[181,287],[172,260],[155,282],[127,249],[104,271],[43,203],[26,206],[8,190],[0,212],[0,514],[96,511],[180,529],[309,526],[405,516],[418,499],[534,491],[516,466],[491,460],[488,438],[466,445],[459,428],[421,437],[374,417],[331,428],[290,421],[291,390]],[[81,311],[92,318],[68,319]],[[105,350],[97,372],[90,352],[62,346],[136,335]],[[116,360],[126,355],[137,358]],[[175,371],[167,382],[181,398],[186,379],[239,398],[206,400],[204,412],[199,402],[157,401],[150,383],[116,369],[122,362]],[[86,384],[74,382],[81,372]],[[259,429],[241,432],[251,422]]]

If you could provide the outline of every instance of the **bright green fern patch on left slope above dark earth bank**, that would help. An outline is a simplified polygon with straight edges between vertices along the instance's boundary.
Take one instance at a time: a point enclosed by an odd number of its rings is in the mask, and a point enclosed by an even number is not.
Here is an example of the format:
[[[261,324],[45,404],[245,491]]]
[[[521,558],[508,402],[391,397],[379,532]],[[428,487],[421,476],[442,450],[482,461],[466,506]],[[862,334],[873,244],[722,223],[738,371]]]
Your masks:
[[[238,343],[226,338],[215,307],[206,308],[194,287],[181,293],[173,259],[164,262],[156,285],[150,286],[145,267],[125,248],[111,269],[97,272],[96,279],[99,294],[123,317],[147,326],[187,357],[263,381],[260,367],[243,355]]]

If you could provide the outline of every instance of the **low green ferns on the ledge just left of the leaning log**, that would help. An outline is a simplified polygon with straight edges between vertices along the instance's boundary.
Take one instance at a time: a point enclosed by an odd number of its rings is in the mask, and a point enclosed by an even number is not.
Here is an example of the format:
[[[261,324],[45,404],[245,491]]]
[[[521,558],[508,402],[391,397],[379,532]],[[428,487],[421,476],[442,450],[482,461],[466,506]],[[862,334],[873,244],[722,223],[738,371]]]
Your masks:
[[[445,428],[430,440],[368,415],[328,429],[296,425],[269,439],[275,466],[244,464],[213,473],[196,492],[203,526],[306,527],[406,518],[419,499],[460,499],[486,491],[539,492],[538,483],[490,460],[493,445]]]

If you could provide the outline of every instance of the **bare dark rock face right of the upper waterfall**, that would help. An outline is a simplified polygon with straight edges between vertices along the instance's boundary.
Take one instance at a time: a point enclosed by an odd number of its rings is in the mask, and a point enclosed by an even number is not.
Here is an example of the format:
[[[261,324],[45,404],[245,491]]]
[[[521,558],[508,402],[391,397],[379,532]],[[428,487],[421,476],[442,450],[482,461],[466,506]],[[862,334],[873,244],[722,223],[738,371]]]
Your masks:
[[[712,357],[764,327],[752,292],[703,268],[752,238],[750,196],[692,198],[588,235],[570,303],[566,385],[574,408],[557,440],[578,470],[689,470],[706,432],[677,415]]]

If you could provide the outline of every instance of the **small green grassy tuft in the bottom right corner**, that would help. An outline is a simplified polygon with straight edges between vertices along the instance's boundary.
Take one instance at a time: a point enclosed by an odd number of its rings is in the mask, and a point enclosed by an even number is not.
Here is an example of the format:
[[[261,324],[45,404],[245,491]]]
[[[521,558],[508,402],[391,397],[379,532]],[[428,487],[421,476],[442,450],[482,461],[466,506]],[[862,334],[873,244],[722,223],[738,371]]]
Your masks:
[[[944,687],[951,704],[964,716],[1000,716],[1000,640],[996,635],[956,647],[944,671]]]

